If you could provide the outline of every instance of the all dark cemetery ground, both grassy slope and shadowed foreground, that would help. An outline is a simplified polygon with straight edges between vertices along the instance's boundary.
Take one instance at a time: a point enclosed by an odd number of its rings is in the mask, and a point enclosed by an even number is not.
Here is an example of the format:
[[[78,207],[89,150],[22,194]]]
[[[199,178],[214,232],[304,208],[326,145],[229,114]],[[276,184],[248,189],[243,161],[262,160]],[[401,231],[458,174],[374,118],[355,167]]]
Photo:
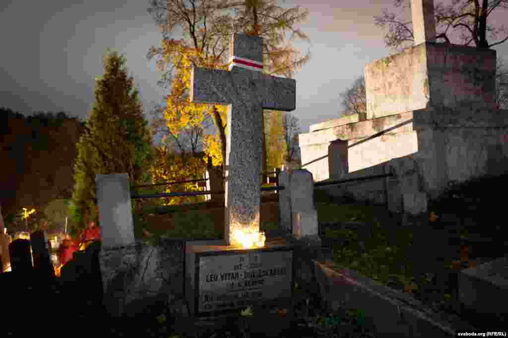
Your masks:
[[[505,178],[497,178],[451,189],[429,206],[429,214],[406,220],[406,226],[402,226],[400,217],[387,212],[384,206],[333,201],[316,190],[314,204],[323,250],[337,269],[354,269],[379,283],[410,293],[429,308],[456,314],[477,329],[502,328],[504,318],[484,316],[460,306],[457,277],[460,269],[505,255],[508,248],[505,239],[499,236],[503,201],[492,194],[494,187],[499,189],[505,182]],[[266,231],[268,240],[277,236],[277,195],[266,194],[262,200],[261,230]],[[165,212],[172,212],[135,213],[136,237],[150,241],[156,241],[162,235],[221,238],[224,208],[218,205],[214,208],[208,202],[166,209]],[[236,315],[214,321],[203,320],[196,325],[189,325],[183,317],[167,313],[163,305],[160,311],[152,311],[144,317],[110,318],[92,292],[87,292],[86,285],[63,288],[58,280],[49,286],[29,282],[25,286],[3,285],[16,290],[7,293],[6,297],[12,298],[8,304],[25,309],[16,313],[26,313],[25,317],[3,318],[12,323],[7,331],[3,329],[8,336],[46,331],[38,329],[35,324],[26,325],[27,318],[33,318],[30,322],[54,323],[53,335],[56,336],[77,331],[93,334],[99,327],[101,332],[111,336],[167,338],[266,336],[266,332],[254,333],[260,327],[268,327],[274,336],[279,337],[375,336],[368,308],[339,307],[332,310],[326,299],[299,285],[295,285],[293,314],[287,309],[273,307],[243,309]],[[52,292],[41,292],[48,288]],[[192,329],[190,332],[189,328]]]

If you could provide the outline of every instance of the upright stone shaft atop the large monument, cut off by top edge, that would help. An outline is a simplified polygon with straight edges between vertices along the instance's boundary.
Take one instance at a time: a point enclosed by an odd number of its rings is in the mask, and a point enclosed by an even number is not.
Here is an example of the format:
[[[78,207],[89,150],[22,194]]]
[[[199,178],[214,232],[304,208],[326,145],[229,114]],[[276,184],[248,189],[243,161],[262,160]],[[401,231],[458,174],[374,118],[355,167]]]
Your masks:
[[[434,0],[411,0],[411,20],[415,46],[436,41]]]

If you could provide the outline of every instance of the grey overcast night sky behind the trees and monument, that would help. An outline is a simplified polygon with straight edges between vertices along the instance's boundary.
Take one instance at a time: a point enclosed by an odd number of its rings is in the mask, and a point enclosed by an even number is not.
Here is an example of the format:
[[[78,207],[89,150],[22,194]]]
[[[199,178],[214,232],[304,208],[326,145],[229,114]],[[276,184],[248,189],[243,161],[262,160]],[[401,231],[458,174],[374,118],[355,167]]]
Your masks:
[[[342,111],[338,94],[363,75],[366,63],[390,54],[383,42],[385,31],[374,25],[373,16],[381,15],[383,9],[393,11],[393,0],[279,4],[301,5],[310,12],[299,27],[311,43],[295,43],[302,54],[310,48],[312,56],[295,74],[297,108],[293,112],[302,132],[308,132],[310,124],[338,118]],[[155,61],[145,58],[148,49],[159,47],[162,40],[148,7],[146,0],[4,0],[0,5],[0,106],[23,114],[66,111],[87,118],[94,101],[94,78],[102,75],[102,57],[111,47],[126,57],[150,119],[149,112],[168,93],[157,86],[160,73]],[[492,18],[500,20],[508,11],[495,14]],[[498,57],[508,60],[508,42],[494,49]]]

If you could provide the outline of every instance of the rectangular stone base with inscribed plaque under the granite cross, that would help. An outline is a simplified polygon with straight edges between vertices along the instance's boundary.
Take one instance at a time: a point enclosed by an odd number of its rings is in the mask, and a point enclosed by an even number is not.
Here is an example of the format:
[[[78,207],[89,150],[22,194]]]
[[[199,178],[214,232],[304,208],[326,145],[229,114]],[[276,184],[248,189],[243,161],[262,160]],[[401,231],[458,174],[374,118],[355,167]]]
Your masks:
[[[224,241],[185,245],[185,295],[190,317],[238,315],[246,307],[288,305],[293,299],[293,245],[271,239],[241,249]]]

